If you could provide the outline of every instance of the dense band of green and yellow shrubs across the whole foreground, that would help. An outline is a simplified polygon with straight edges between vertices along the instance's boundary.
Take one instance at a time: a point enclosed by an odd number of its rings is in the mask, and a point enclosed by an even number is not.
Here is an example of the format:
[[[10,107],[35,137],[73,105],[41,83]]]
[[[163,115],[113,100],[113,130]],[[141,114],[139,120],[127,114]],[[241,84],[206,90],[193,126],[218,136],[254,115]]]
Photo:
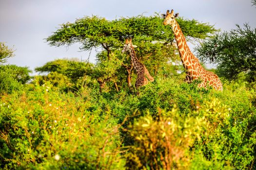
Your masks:
[[[255,168],[256,91],[182,79],[102,93],[86,85],[65,92],[65,79],[45,79],[1,95],[1,168]]]

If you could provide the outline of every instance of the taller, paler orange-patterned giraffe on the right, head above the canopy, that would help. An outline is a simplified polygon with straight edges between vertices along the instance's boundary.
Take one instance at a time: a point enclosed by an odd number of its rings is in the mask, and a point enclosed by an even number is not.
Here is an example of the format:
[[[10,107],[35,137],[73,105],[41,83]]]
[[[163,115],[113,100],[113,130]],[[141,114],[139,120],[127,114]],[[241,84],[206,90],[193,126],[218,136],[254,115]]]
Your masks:
[[[173,33],[175,35],[175,39],[177,42],[177,47],[179,51],[179,56],[184,68],[187,71],[186,82],[191,83],[193,80],[201,79],[202,83],[198,85],[198,87],[206,87],[207,85],[213,86],[217,90],[222,90],[222,84],[219,80],[218,76],[211,72],[205,70],[199,63],[199,60],[193,53],[190,51],[185,36],[183,35],[177,21],[176,17],[178,13],[174,16],[174,11],[171,13],[167,10],[166,15],[164,17],[164,25],[171,25]]]

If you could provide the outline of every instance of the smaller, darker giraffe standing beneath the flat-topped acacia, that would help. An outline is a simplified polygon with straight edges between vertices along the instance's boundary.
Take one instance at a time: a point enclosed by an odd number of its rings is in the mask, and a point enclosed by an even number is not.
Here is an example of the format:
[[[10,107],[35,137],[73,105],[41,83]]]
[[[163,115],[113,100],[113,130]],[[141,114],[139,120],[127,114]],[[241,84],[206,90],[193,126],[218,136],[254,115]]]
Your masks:
[[[137,79],[135,87],[138,88],[142,85],[147,85],[148,80],[150,82],[154,81],[154,78],[149,74],[147,68],[139,62],[138,58],[136,57],[136,53],[134,50],[134,45],[132,44],[132,39],[125,39],[125,44],[123,46],[122,53],[128,52],[132,59],[132,65],[136,69]]]

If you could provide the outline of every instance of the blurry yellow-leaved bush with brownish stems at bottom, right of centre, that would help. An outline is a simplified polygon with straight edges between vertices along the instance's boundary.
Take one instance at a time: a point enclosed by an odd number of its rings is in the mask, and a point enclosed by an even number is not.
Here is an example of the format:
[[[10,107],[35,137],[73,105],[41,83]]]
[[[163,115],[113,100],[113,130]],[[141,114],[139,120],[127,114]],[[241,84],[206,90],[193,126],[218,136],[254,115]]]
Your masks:
[[[141,117],[130,125],[134,145],[127,154],[130,169],[188,169],[189,148],[200,134],[200,119],[180,116],[172,111],[159,110],[159,120]],[[195,128],[196,127],[196,128]]]

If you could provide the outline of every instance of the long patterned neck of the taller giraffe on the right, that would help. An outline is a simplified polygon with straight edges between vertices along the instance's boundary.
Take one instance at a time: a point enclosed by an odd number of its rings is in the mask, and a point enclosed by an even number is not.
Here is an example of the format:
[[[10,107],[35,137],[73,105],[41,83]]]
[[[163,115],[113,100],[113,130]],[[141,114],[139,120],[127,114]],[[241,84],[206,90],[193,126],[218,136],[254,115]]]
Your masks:
[[[202,67],[199,60],[190,51],[185,36],[182,33],[177,21],[172,25],[172,30],[175,35],[179,56],[184,68],[190,73],[192,70],[196,71],[196,67]]]

